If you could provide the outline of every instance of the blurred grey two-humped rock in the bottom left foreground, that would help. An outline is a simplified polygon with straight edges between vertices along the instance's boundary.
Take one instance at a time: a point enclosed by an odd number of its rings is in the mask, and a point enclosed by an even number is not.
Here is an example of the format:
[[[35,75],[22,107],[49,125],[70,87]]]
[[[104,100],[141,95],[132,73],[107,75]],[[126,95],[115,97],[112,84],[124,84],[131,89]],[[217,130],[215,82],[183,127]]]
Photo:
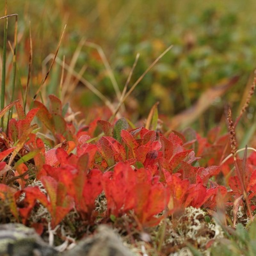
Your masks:
[[[107,225],[86,237],[74,248],[59,253],[36,234],[33,228],[19,223],[0,225],[0,256],[134,256],[122,239]]]

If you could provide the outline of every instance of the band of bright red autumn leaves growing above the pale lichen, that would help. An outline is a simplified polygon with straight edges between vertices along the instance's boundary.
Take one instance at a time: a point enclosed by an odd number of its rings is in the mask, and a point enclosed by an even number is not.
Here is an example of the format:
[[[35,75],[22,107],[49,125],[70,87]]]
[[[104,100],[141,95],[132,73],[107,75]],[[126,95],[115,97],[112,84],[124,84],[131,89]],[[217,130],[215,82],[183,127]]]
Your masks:
[[[49,102],[46,108],[35,101],[26,114],[19,101],[13,103],[17,117],[1,131],[0,198],[16,221],[35,224],[30,216],[41,206],[51,214],[51,227],[72,211],[91,225],[127,214],[151,227],[189,206],[214,212],[217,198],[246,208],[243,186],[255,210],[256,154],[237,159],[241,184],[232,157],[221,163],[230,154],[228,135],[214,129],[208,138],[191,130],[164,136],[130,129],[125,118],[77,127],[58,98],[50,95]],[[45,138],[36,134],[35,118]],[[107,202],[104,212],[95,207],[100,196]]]

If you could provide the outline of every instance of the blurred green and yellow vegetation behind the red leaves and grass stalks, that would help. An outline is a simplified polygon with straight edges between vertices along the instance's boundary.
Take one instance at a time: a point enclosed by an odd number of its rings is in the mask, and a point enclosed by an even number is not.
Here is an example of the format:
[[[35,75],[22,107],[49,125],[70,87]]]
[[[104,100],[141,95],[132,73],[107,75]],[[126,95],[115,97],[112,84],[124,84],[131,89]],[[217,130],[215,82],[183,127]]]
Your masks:
[[[196,124],[202,129],[218,124],[228,102],[237,115],[246,97],[256,56],[256,4],[251,0],[8,0],[8,13],[19,13],[20,86],[28,73],[29,22],[33,42],[31,97],[44,74],[45,58],[56,51],[65,24],[67,29],[58,57],[70,63],[82,38],[102,47],[120,90],[124,88],[136,54],[140,59],[130,86],[169,45],[173,48],[145,76],[126,102],[131,120],[145,118],[159,101],[159,113],[172,118],[189,109],[207,89],[234,76],[239,80],[210,104]],[[4,15],[4,0],[0,2]],[[3,31],[3,20],[1,30]],[[8,35],[13,40],[14,20]],[[3,44],[3,42],[1,42]],[[49,63],[47,64],[49,65]],[[116,101],[99,53],[84,45],[74,70],[84,66],[83,77],[112,102]],[[58,95],[61,68],[54,66],[47,90]],[[34,91],[33,91],[34,90]],[[55,91],[54,91],[55,90]],[[77,83],[67,100],[78,108],[100,106],[92,92]],[[205,99],[207,100],[207,99]],[[253,122],[253,103],[247,115]],[[246,125],[246,124],[245,124]]]

